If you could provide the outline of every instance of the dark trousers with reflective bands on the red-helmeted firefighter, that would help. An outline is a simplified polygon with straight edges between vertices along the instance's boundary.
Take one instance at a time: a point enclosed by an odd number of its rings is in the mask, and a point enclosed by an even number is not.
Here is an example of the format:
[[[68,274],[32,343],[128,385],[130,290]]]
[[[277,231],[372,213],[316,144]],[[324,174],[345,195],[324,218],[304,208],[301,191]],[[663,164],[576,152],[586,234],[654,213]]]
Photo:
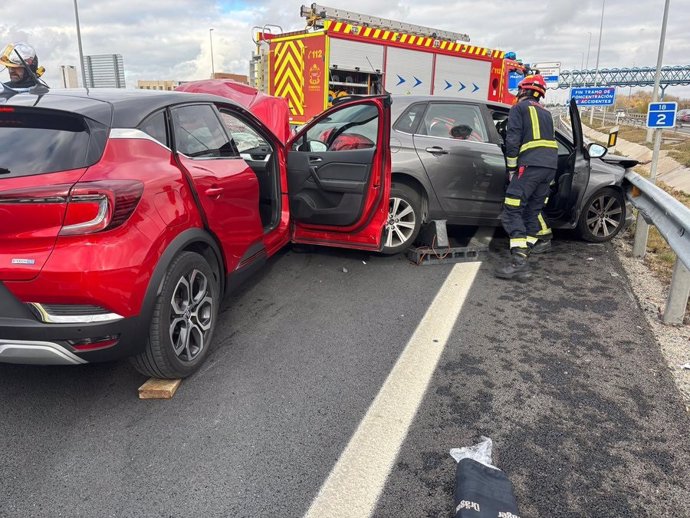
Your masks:
[[[556,170],[548,167],[520,166],[513,175],[503,204],[501,221],[510,237],[513,252],[526,252],[543,230],[541,210],[549,195]]]

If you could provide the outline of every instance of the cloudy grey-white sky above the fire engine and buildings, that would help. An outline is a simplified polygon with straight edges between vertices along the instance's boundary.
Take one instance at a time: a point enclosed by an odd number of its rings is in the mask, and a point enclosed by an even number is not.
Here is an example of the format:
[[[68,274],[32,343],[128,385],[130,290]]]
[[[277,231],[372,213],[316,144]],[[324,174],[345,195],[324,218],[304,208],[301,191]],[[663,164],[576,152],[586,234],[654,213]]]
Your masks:
[[[595,68],[602,2],[599,68],[656,66],[664,12],[664,0],[323,1],[330,1],[322,4],[329,7],[467,33],[473,44],[514,51],[527,63],[561,62],[564,70]],[[300,17],[302,2],[296,0],[78,0],[78,4],[84,54],[121,54],[128,88],[139,79],[210,77],[211,28],[215,71],[247,74],[254,49],[252,27],[272,24],[290,31],[305,25]],[[671,0],[664,65],[690,65],[689,20],[690,0]],[[18,41],[36,49],[46,68],[44,79],[59,88],[59,66],[79,64],[74,0],[6,2],[0,47]],[[6,71],[0,74],[7,80]],[[670,87],[667,93],[690,97],[690,87]],[[564,100],[565,95],[561,90],[551,99]]]

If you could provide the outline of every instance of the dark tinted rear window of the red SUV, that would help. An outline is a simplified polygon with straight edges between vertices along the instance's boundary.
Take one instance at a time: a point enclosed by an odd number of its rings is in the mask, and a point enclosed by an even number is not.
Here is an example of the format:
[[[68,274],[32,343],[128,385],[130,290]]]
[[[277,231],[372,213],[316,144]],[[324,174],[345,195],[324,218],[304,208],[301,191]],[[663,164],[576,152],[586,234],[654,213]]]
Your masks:
[[[107,128],[78,114],[16,107],[0,111],[0,180],[88,167]]]

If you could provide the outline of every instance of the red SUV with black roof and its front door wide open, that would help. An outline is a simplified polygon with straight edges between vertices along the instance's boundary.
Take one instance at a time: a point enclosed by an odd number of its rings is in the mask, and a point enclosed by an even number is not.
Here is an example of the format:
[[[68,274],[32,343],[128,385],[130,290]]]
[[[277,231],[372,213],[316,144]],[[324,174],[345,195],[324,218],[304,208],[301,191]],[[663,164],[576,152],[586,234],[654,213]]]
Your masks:
[[[191,374],[223,295],[283,245],[381,248],[389,107],[346,100],[286,145],[211,94],[0,95],[0,362]],[[360,128],[370,147],[312,142]]]

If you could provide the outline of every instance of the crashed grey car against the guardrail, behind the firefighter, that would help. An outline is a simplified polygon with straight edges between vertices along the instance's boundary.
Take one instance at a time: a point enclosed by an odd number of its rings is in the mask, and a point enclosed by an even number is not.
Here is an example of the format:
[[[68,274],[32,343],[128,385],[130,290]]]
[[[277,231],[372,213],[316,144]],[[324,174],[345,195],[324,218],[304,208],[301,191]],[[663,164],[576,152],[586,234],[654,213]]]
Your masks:
[[[384,253],[412,245],[423,223],[499,226],[508,182],[509,105],[436,96],[394,97],[392,187]],[[558,171],[544,214],[587,241],[612,239],[626,222],[621,184],[635,160],[586,145],[570,105],[571,131],[557,130]]]

